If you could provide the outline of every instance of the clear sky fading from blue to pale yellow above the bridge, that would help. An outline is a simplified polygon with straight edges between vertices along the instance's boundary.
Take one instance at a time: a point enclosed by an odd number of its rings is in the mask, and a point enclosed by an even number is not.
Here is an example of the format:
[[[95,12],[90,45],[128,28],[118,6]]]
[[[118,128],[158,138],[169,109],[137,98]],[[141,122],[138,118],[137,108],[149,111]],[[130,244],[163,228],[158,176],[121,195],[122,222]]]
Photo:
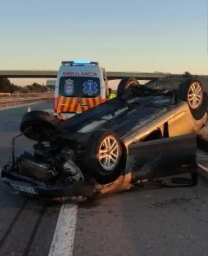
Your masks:
[[[0,69],[207,74],[207,0],[0,0]],[[12,79],[25,85],[43,79]]]

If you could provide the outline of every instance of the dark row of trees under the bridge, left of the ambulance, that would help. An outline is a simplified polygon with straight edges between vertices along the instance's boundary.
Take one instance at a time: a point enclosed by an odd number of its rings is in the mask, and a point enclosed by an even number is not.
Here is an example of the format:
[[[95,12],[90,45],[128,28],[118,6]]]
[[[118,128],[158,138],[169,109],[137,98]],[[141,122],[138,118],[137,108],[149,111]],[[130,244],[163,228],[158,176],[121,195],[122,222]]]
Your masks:
[[[54,90],[50,86],[44,84],[33,83],[26,86],[19,86],[12,84],[8,78],[0,77],[0,92],[8,93],[30,93],[30,92],[48,92],[49,90]]]

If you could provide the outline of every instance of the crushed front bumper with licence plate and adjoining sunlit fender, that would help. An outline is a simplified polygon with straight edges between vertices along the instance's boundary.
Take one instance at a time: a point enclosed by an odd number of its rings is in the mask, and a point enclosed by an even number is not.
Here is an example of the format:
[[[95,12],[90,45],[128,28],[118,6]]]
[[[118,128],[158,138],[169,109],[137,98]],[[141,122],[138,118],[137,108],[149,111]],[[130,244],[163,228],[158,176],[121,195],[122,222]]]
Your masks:
[[[32,197],[43,199],[70,199],[72,197],[92,198],[97,194],[105,194],[111,191],[123,191],[130,189],[131,174],[121,175],[114,182],[100,185],[96,180],[77,181],[75,184],[68,185],[46,185],[42,181],[23,176],[13,172],[12,168],[1,170],[3,182],[13,189]]]

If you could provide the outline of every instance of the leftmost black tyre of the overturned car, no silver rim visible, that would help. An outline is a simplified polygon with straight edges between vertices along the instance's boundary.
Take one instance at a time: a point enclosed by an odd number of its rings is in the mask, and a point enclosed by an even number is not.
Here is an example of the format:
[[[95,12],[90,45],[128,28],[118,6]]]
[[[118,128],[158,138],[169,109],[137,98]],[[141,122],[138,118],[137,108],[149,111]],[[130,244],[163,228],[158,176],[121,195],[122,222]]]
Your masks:
[[[22,117],[20,131],[30,140],[44,142],[49,141],[58,124],[55,116],[48,112],[33,110]]]

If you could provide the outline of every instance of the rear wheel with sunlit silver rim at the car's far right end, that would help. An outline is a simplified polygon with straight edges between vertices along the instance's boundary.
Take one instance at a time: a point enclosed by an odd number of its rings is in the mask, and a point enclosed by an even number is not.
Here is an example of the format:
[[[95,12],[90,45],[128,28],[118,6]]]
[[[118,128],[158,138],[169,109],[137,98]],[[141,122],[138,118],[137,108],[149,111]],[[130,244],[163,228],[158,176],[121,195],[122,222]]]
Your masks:
[[[198,92],[195,93],[194,90]],[[188,103],[191,114],[196,120],[200,120],[206,114],[207,93],[204,92],[203,85],[199,80],[193,77],[184,79],[177,89],[177,98]],[[197,101],[194,102],[194,99]]]

